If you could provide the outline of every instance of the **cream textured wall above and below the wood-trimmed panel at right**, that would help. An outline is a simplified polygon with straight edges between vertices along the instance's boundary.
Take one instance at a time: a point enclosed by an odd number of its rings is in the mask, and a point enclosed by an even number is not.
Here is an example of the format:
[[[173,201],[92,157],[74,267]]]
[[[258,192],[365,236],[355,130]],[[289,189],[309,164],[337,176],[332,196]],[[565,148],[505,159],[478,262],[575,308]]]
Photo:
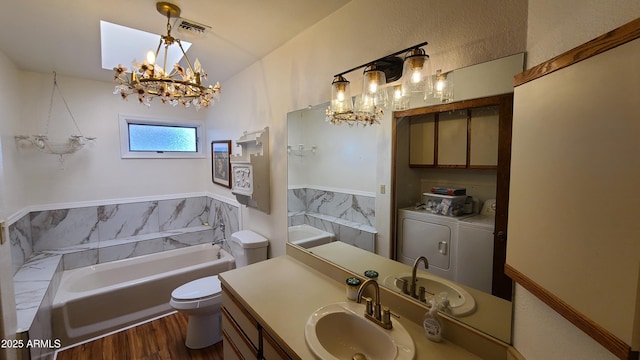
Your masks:
[[[637,0],[529,0],[528,68],[640,16]],[[588,121],[589,119],[585,119]],[[615,359],[606,349],[516,286],[514,346],[530,360]]]

